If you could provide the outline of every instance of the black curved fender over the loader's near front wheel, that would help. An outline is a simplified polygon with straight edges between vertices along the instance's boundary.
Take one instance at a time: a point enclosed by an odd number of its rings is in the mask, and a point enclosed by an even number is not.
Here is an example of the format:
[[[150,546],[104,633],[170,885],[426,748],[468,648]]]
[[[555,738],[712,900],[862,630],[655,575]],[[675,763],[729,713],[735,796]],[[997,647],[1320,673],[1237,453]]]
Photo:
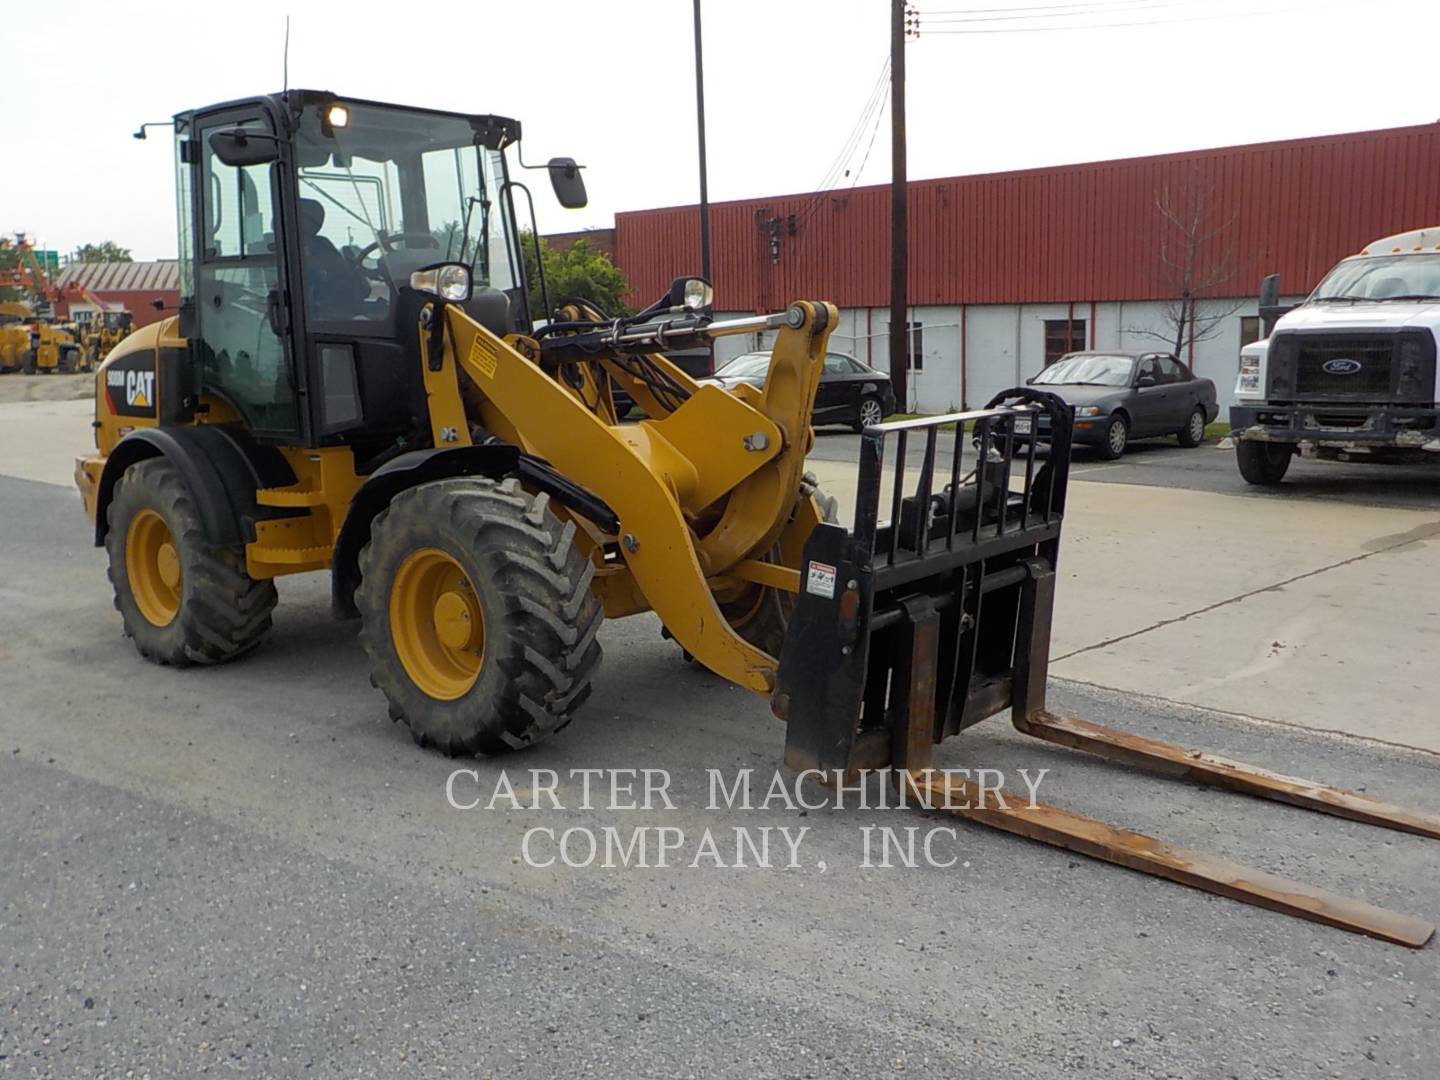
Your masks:
[[[619,528],[615,511],[595,492],[556,472],[540,458],[521,454],[518,446],[508,442],[409,451],[372,472],[350,500],[330,566],[331,608],[337,618],[351,619],[360,613],[354,603],[356,588],[360,585],[360,550],[370,543],[370,526],[376,516],[408,488],[456,477],[518,477],[526,487],[550,494],[600,528],[609,533]]]

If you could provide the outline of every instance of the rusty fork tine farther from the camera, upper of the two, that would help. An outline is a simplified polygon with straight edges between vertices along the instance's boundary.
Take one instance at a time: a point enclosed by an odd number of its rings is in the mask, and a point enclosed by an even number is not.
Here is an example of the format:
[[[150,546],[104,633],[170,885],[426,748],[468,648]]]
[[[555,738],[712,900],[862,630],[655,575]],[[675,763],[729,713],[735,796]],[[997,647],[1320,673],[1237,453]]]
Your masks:
[[[1215,788],[1256,795],[1261,799],[1289,802],[1293,806],[1303,806],[1320,814],[1333,814],[1338,818],[1364,821],[1369,825],[1440,840],[1440,814],[1405,809],[1342,788],[1328,788],[1313,780],[1284,776],[1202,750],[1143,739],[1054,713],[1035,713],[1028,719],[1017,719],[1015,727],[1035,739],[1086,750],[1100,757],[1168,776],[1184,776]]]

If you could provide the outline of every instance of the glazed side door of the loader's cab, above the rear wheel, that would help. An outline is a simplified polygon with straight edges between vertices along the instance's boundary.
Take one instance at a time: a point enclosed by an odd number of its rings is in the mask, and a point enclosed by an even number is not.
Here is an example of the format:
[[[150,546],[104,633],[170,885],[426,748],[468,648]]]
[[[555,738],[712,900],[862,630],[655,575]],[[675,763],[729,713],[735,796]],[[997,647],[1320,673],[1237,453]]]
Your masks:
[[[301,410],[278,239],[282,168],[278,160],[225,164],[212,137],[236,130],[255,132],[252,144],[278,145],[258,107],[206,117],[199,127],[197,389],[230,405],[256,438],[297,442]]]

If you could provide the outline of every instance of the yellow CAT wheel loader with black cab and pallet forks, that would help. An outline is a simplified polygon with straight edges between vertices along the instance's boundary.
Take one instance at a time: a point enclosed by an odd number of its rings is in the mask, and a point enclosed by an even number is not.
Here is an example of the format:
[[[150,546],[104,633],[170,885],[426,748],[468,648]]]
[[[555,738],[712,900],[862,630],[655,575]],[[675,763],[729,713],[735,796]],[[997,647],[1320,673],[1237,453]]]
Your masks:
[[[805,471],[835,308],[717,320],[710,285],[681,278],[626,318],[566,297],[531,310],[520,134],[311,91],[176,117],[179,315],[101,366],[96,452],[75,474],[144,657],[235,660],[269,629],[278,576],[328,572],[390,714],[422,746],[500,753],[570,723],[600,622],[648,611],[770,703],[786,765],[814,778],[893,770],[992,827],[1430,939],[1418,919],[936,770],[937,743],[1008,710],[1040,739],[1440,837],[1436,815],[1051,714],[1068,408],[1012,390],[867,428],[845,528]],[[573,160],[543,168],[563,206],[585,203]],[[662,356],[762,330],[762,389],[697,386]],[[647,419],[622,423],[618,392]]]

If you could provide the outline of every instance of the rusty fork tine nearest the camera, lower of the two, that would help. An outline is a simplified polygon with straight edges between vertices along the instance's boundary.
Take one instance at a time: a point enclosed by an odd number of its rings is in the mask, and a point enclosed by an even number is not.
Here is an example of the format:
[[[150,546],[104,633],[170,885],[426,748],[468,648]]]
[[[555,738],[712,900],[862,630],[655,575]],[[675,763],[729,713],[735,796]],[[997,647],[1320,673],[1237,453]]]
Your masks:
[[[907,779],[912,791],[932,809],[1272,912],[1410,949],[1423,949],[1436,932],[1430,923],[1408,914],[1387,912],[1384,907],[1240,863],[1179,848],[1057,806],[1031,806],[1024,798],[981,788],[955,776],[913,772],[907,773]]]

